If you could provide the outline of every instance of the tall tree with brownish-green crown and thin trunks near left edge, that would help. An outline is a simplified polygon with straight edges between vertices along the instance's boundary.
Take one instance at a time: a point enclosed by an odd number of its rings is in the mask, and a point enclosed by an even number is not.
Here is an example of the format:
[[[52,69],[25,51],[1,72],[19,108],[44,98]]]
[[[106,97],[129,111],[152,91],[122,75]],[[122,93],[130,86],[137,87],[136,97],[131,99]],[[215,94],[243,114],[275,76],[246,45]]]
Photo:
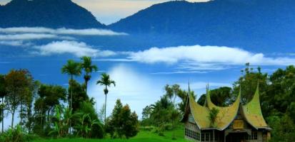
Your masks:
[[[14,128],[14,114],[22,105],[24,96],[31,94],[33,78],[28,70],[11,70],[5,77],[6,84],[6,106],[11,112],[11,129]],[[22,110],[21,110],[22,113]]]

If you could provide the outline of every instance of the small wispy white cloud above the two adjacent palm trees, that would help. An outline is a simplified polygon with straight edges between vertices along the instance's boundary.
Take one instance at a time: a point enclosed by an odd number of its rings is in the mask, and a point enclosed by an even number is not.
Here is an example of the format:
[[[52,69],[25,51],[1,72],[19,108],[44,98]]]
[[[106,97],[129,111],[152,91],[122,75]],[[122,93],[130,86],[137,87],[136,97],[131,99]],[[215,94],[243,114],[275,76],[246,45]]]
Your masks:
[[[76,41],[54,41],[47,45],[39,45],[34,47],[39,55],[54,55],[54,54],[72,54],[76,57],[91,56],[91,57],[107,57],[116,55],[111,50],[94,49],[86,43],[78,43]]]

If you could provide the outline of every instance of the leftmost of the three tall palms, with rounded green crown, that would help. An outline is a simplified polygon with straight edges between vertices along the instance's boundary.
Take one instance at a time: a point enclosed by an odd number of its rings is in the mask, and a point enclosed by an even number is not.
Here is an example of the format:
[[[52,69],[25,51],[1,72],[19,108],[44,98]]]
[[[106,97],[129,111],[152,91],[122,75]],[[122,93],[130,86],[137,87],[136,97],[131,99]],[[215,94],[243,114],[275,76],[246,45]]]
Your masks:
[[[71,82],[74,80],[74,76],[81,75],[81,65],[79,62],[75,62],[74,60],[68,60],[66,62],[66,65],[61,68],[61,73],[68,74],[71,76],[71,79],[69,80],[69,86],[71,87]],[[73,101],[73,90],[71,88],[71,102],[70,102],[70,108],[72,109],[72,101]]]

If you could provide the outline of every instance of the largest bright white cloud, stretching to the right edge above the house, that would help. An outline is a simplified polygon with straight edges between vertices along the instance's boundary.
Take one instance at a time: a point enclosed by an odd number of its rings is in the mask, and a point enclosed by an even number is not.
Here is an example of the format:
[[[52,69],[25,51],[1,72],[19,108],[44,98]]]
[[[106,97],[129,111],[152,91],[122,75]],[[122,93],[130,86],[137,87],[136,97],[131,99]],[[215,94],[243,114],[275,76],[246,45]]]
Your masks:
[[[239,48],[201,45],[150,48],[130,53],[128,58],[150,64],[187,62],[204,68],[211,65],[244,65],[246,62],[251,65],[291,65],[295,62],[294,58],[266,58],[262,53],[250,53]]]

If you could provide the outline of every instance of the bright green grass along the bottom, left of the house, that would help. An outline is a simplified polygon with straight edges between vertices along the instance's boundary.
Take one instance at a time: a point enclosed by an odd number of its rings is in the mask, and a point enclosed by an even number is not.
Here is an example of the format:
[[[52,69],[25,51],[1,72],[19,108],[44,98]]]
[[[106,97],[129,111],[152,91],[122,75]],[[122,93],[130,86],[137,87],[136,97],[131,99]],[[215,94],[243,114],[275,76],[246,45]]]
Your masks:
[[[164,136],[159,136],[158,133],[151,131],[140,131],[134,138],[127,139],[84,139],[84,138],[64,138],[51,140],[38,140],[34,142],[187,142],[184,139],[184,128],[181,127],[175,130],[176,140],[172,140],[173,131],[165,131]]]

